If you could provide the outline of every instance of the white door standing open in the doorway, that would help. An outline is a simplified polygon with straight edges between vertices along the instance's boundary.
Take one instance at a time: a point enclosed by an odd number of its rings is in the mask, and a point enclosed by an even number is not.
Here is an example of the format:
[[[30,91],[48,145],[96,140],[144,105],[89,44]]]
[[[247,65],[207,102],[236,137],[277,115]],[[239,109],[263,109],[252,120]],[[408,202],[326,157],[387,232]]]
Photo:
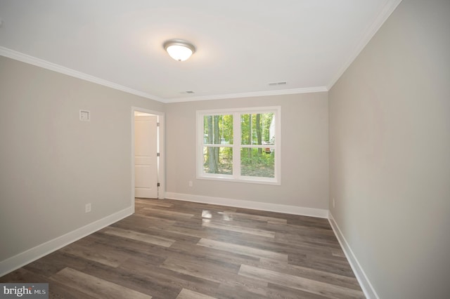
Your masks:
[[[158,198],[158,116],[134,116],[134,196]]]

